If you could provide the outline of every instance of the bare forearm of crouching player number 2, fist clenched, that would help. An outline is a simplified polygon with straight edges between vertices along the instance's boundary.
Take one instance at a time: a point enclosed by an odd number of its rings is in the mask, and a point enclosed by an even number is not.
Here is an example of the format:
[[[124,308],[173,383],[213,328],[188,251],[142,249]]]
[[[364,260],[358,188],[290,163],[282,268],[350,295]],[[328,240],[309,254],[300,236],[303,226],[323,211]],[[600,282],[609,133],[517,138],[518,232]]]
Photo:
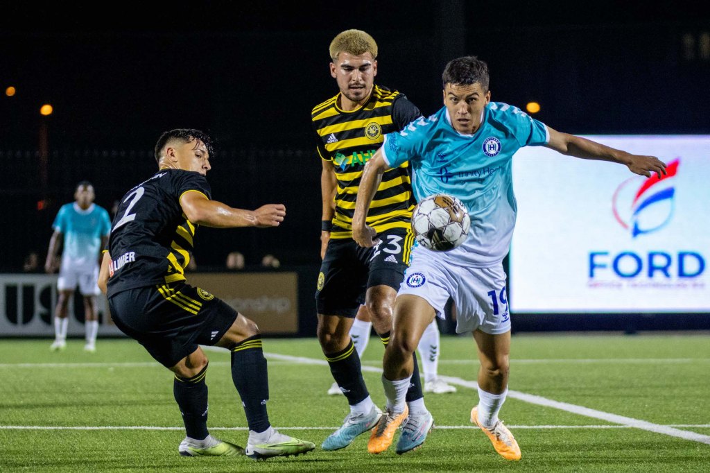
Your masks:
[[[209,200],[202,192],[182,194],[180,207],[190,222],[217,228],[278,227],[286,215],[283,204],[262,205],[256,210],[235,209],[217,200]]]

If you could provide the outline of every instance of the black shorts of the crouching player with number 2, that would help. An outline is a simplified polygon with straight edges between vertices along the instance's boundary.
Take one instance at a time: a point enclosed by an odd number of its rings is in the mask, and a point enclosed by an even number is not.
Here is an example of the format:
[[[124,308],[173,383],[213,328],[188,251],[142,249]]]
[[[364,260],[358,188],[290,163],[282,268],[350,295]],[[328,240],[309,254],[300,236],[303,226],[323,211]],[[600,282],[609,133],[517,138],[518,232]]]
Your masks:
[[[109,298],[116,327],[170,368],[213,345],[229,330],[237,312],[224,301],[184,282],[121,291]]]

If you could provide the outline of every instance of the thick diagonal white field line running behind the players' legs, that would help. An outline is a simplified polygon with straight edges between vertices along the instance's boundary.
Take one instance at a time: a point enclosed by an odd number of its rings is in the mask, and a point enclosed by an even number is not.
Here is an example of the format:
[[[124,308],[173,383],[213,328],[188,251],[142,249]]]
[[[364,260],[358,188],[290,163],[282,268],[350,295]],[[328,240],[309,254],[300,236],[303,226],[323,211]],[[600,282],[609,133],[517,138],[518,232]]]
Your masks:
[[[293,360],[298,363],[304,364],[319,364],[327,365],[327,361],[322,359],[312,359],[305,357],[290,357],[288,355],[268,353],[265,354],[267,357],[273,359],[280,359],[282,361]],[[363,371],[370,371],[381,373],[382,370],[375,368],[373,366],[362,366]],[[477,389],[478,384],[476,381],[466,381],[465,379],[457,378],[454,376],[439,376],[444,381],[450,384],[458,384],[459,386],[464,386],[466,388]],[[584,415],[586,417],[591,417],[594,419],[606,420],[611,423],[616,423],[620,425],[626,425],[628,427],[638,428],[640,430],[648,430],[649,432],[662,433],[665,435],[670,435],[671,437],[679,437],[685,440],[692,440],[694,442],[701,442],[710,445],[710,435],[702,435],[699,433],[689,432],[687,430],[680,430],[677,428],[669,427],[668,425],[660,425],[647,422],[645,420],[634,419],[630,417],[625,417],[623,415],[616,415],[612,413],[607,413],[603,411],[597,411],[596,409],[586,408],[584,406],[577,406],[575,404],[562,403],[559,401],[553,401],[552,399],[543,398],[542,396],[535,396],[534,394],[523,393],[520,391],[512,391],[508,389],[508,397],[513,399],[518,399],[519,401],[525,401],[531,404],[537,404],[537,406],[545,406],[559,409],[560,411],[567,411],[573,414]]]

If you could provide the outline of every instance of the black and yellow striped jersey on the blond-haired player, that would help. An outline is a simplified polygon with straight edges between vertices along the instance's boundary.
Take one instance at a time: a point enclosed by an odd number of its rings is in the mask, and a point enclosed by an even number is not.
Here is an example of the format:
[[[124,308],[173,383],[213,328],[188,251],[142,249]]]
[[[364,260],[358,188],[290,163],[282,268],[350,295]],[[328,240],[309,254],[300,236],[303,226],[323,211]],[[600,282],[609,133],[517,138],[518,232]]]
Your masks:
[[[419,109],[404,94],[375,85],[368,102],[346,112],[338,105],[340,94],[313,108],[320,158],[332,161],[337,178],[335,215],[330,237],[352,237],[357,190],[365,163],[382,145],[384,135],[400,131],[420,118]],[[367,224],[380,233],[409,228],[415,200],[409,163],[387,170],[367,215]]]

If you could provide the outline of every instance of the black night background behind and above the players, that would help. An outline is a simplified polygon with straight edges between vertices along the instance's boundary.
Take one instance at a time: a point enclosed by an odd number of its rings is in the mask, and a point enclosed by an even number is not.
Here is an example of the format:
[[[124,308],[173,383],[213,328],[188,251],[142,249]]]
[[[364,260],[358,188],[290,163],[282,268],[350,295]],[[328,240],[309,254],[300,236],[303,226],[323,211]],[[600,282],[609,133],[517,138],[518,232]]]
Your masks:
[[[283,202],[288,211],[278,229],[200,229],[198,266],[221,266],[232,250],[248,265],[273,253],[286,266],[317,266],[320,160],[309,115],[337,93],[328,45],[347,28],[373,35],[376,81],[424,114],[441,107],[445,63],[472,54],[488,62],[493,100],[540,102],[535,117],[560,131],[710,133],[702,2],[295,4],[5,4],[0,268],[18,269],[32,250],[43,261],[55,214],[80,180],[94,183],[110,211],[155,171],[160,133],[179,127],[217,139],[208,176],[215,199],[249,209]],[[39,114],[45,103],[51,116]]]

